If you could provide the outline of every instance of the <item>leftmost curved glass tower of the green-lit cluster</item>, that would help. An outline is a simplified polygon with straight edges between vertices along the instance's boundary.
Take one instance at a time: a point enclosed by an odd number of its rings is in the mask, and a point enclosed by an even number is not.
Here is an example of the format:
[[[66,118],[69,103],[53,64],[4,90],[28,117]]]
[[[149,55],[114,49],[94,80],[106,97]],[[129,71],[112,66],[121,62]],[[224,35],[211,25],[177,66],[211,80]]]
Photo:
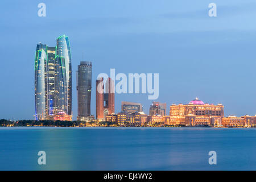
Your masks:
[[[38,44],[35,55],[35,117],[36,120],[48,118],[47,111],[47,46]]]

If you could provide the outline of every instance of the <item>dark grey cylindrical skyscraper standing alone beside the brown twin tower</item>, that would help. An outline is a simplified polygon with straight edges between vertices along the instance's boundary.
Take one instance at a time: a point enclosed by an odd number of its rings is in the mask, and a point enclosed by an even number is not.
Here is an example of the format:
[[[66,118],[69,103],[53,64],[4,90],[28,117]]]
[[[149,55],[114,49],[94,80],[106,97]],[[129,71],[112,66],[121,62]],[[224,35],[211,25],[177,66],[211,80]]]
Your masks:
[[[81,61],[77,71],[77,120],[82,121],[90,115],[92,92],[92,62]]]

